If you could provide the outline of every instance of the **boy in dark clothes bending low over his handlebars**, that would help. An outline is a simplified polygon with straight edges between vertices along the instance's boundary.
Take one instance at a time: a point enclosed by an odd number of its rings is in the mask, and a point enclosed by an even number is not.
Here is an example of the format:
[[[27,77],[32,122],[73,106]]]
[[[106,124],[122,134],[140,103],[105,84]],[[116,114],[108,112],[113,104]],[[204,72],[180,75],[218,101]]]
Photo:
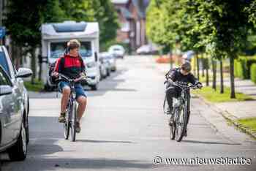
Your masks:
[[[175,69],[170,69],[169,72],[165,75],[167,81],[167,86],[166,86],[166,99],[167,99],[167,104],[169,106],[169,110],[167,114],[171,115],[173,117],[173,98],[178,98],[178,96],[181,95],[181,89],[178,88],[177,86],[173,85],[173,82],[176,82],[180,85],[187,86],[189,83],[192,85],[197,86],[198,88],[202,88],[202,83],[200,83],[194,75],[191,73],[191,64],[189,61],[185,61],[184,64],[181,64],[181,67],[175,68]],[[189,91],[187,91],[188,94],[188,99],[187,99],[187,111],[188,111],[188,118],[190,115],[190,94]],[[172,121],[172,119],[170,119]],[[189,121],[189,119],[188,119]],[[186,133],[187,135],[187,130]]]

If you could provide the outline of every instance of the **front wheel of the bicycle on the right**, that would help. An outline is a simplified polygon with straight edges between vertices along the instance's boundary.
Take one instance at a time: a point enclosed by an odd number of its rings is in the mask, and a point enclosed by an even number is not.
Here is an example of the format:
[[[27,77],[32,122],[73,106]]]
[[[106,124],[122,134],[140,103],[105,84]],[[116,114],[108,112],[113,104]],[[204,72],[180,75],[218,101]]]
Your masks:
[[[180,142],[187,128],[187,107],[181,107],[176,113],[176,141]]]

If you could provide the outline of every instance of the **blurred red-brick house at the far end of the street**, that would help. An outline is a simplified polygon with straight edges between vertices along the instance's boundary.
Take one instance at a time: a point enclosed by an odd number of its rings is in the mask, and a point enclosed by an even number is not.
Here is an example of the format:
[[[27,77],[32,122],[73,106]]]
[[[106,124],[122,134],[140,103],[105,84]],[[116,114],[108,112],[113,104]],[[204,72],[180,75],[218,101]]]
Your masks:
[[[132,51],[147,43],[146,8],[150,0],[112,0],[121,28],[117,31],[118,42],[128,43]]]

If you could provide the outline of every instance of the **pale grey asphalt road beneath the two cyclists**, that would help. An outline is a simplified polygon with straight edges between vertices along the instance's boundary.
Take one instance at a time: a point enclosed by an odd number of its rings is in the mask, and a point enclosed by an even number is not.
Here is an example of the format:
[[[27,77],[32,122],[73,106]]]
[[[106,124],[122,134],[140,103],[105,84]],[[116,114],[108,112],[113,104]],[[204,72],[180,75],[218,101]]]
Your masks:
[[[217,131],[200,99],[192,99],[188,137],[171,141],[162,112],[163,82],[151,58],[119,60],[117,72],[100,83],[99,91],[87,91],[89,105],[77,142],[64,140],[56,93],[30,94],[27,159],[10,162],[1,154],[1,170],[256,170],[256,142],[233,127],[226,132],[223,122],[224,129]],[[156,156],[162,163],[154,164]],[[166,158],[221,157],[244,157],[251,164],[165,164]]]

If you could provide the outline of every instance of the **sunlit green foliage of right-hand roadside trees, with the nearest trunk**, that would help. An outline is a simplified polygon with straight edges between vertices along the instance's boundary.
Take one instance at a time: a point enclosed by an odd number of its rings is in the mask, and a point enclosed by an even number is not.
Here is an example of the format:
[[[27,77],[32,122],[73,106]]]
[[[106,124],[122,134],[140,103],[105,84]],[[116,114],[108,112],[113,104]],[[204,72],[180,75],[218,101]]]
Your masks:
[[[153,42],[230,58],[234,97],[233,60],[254,32],[255,0],[152,0],[147,18],[146,34]]]

